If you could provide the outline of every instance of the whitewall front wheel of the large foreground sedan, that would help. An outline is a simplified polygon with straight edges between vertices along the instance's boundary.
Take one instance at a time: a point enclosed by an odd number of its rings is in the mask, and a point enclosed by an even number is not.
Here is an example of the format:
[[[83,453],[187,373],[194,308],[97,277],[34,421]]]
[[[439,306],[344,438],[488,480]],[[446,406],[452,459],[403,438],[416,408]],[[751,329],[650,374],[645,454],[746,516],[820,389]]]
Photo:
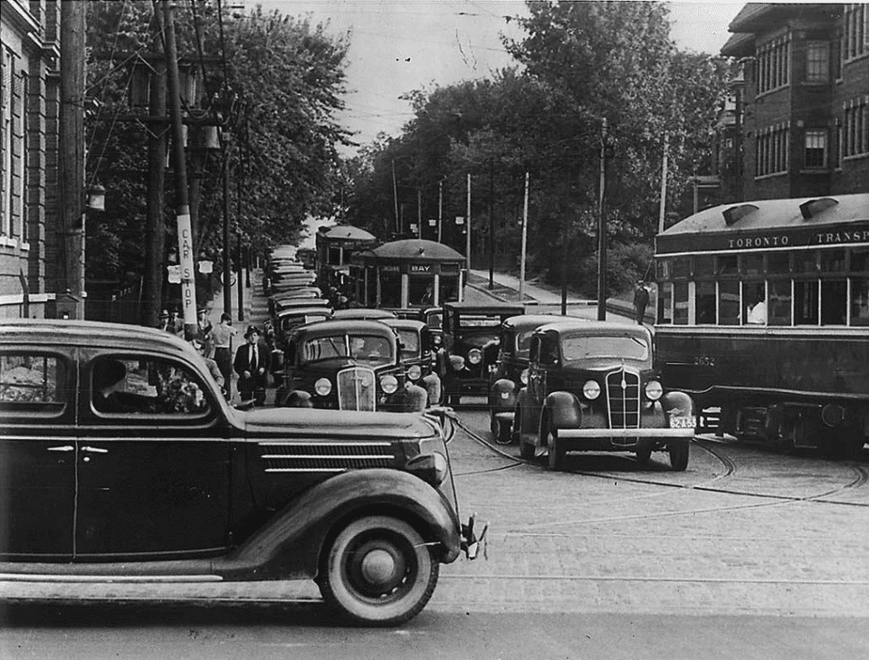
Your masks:
[[[320,593],[358,623],[396,626],[432,597],[438,563],[405,521],[368,516],[350,522],[329,547]]]

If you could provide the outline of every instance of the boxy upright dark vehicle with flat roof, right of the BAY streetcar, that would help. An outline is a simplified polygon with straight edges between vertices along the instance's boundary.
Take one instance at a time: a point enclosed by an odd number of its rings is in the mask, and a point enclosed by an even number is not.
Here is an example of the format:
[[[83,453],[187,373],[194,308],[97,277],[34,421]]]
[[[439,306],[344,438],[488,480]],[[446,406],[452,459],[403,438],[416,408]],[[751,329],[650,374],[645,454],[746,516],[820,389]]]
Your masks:
[[[447,404],[462,395],[486,396],[489,371],[498,359],[501,323],[524,313],[522,305],[444,303],[444,396]]]

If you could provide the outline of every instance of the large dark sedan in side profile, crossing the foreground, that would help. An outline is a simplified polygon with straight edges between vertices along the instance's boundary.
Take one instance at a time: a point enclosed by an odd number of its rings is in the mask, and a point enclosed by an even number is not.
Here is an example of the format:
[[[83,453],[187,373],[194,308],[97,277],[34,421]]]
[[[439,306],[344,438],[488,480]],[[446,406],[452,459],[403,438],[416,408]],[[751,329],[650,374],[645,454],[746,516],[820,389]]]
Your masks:
[[[240,411],[167,332],[5,321],[0,573],[313,579],[352,621],[394,626],[467,545],[443,428],[432,415]]]

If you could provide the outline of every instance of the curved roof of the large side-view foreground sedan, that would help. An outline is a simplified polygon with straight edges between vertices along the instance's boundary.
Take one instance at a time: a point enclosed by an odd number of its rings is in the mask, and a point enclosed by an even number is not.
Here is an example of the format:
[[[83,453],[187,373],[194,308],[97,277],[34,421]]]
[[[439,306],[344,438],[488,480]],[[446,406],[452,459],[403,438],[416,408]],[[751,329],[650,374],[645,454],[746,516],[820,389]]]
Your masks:
[[[193,350],[185,340],[166,330],[94,320],[0,320],[0,341],[13,345],[27,343],[95,348],[141,349],[148,346],[169,353]]]

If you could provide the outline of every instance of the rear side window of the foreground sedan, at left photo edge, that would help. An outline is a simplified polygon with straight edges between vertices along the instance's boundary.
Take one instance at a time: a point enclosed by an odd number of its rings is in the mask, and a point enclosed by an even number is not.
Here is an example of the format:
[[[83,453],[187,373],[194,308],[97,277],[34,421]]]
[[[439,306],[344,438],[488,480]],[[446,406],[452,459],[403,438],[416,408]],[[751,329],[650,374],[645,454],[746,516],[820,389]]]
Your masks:
[[[0,404],[4,413],[60,414],[70,392],[67,363],[53,355],[15,352],[0,355]]]

